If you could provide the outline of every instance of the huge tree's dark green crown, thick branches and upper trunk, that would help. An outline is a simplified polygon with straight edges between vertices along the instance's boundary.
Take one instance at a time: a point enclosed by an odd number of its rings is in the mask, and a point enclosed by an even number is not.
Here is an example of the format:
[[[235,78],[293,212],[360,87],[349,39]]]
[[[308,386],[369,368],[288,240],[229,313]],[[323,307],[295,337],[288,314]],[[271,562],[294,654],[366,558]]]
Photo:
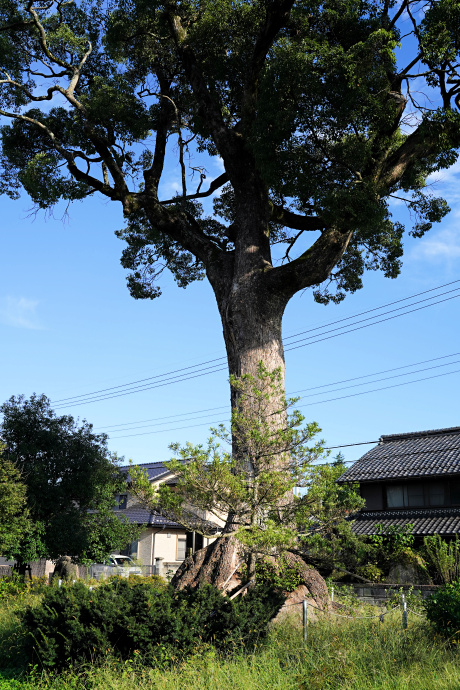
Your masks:
[[[425,181],[460,144],[454,0],[0,7],[3,190],[45,209],[119,202],[132,295],[156,297],[165,266],[181,286],[206,276],[230,374],[284,372],[281,321],[299,290],[338,301],[366,269],[398,275],[391,197],[406,199],[414,237],[448,210]],[[164,199],[173,151],[182,190]],[[209,156],[224,168],[210,184]],[[209,217],[199,200],[215,192]]]

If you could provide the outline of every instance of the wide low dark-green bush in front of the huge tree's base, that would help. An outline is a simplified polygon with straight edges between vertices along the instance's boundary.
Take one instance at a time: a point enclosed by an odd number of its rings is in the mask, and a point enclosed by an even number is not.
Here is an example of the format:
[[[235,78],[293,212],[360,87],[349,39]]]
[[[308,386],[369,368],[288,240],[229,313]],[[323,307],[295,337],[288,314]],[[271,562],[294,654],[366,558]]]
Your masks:
[[[24,612],[26,649],[31,663],[56,670],[106,656],[162,666],[210,643],[223,652],[254,649],[283,601],[261,588],[230,601],[210,585],[175,591],[119,578],[89,590],[77,582],[50,589]]]

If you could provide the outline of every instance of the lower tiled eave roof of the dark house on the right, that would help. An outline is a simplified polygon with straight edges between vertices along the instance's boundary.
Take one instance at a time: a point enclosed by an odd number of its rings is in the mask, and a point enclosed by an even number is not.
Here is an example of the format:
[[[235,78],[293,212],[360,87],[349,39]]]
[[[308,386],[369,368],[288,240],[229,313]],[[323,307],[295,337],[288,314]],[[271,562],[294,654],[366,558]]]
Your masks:
[[[414,525],[412,534],[452,535],[460,532],[460,508],[429,508],[426,510],[385,510],[360,512],[352,518],[355,534],[375,534],[375,525],[385,527]]]

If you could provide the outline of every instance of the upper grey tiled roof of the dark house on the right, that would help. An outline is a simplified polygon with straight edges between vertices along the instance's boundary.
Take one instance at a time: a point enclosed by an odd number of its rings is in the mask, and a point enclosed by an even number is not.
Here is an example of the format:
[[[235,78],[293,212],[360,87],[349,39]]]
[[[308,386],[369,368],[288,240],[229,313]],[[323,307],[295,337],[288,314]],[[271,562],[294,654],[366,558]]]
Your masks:
[[[339,483],[460,475],[460,427],[381,436]]]

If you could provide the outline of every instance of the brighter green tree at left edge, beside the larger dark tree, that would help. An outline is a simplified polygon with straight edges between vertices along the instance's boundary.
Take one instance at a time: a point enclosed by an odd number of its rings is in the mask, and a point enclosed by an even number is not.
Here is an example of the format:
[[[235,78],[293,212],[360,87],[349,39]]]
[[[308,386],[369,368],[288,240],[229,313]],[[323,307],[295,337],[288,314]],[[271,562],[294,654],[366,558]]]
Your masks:
[[[32,532],[26,508],[27,487],[0,443],[0,554],[14,553]]]

